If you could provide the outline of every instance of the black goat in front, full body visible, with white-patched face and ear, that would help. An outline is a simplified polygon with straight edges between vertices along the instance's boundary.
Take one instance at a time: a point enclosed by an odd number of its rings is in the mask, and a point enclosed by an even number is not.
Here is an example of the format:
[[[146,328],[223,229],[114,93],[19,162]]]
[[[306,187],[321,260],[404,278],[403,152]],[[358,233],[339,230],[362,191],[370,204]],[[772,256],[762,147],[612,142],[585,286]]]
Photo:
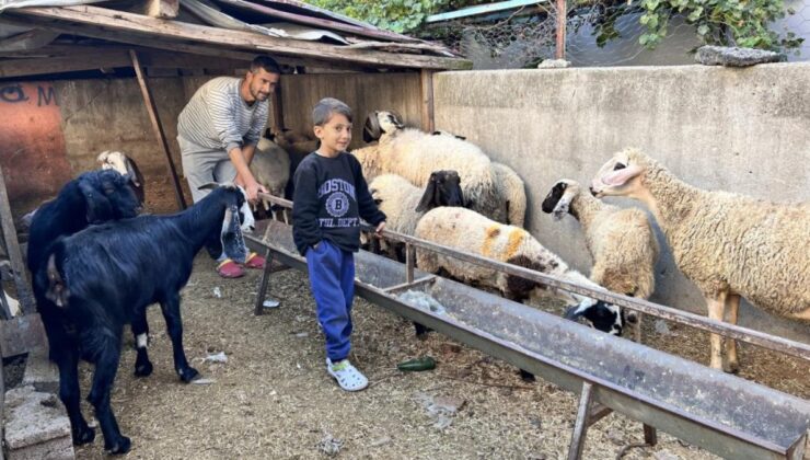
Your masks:
[[[93,226],[51,246],[47,264],[35,276],[35,292],[57,311],[43,310],[43,318],[63,321],[51,335],[51,357],[59,366],[60,398],[70,416],[73,441],[84,444],[95,434],[80,409],[78,361],[95,364],[88,400],[104,434],[104,447],[113,453],[129,450],[113,414],[109,394],[120,359],[124,324],[130,322],[138,345],[136,375],[148,376],[146,309],[159,302],[172,340],[175,370],[185,382],[197,370],[183,350],[180,290],[188,281],[195,254],[206,245],[217,253],[244,262],[247,252],[240,229],[253,225],[244,193],[222,186],[183,212],[141,216]]]

